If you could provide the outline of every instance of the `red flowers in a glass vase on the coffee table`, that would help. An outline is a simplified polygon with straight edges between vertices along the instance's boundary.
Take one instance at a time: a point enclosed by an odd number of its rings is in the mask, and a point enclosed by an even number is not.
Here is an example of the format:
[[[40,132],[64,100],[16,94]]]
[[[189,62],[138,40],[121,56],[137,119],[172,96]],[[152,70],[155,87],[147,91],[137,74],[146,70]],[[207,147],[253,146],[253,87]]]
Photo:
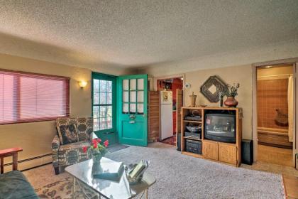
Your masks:
[[[104,141],[101,144],[101,139],[92,139],[91,146],[83,146],[84,153],[87,153],[92,156],[94,162],[99,162],[101,158],[106,154],[106,147],[109,146],[109,140]]]

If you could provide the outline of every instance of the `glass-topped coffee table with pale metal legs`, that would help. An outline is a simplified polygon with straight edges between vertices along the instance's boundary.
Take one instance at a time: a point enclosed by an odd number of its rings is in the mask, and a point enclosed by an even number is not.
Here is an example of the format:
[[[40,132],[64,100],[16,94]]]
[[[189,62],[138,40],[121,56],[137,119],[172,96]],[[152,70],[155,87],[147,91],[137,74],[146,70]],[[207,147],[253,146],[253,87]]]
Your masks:
[[[75,198],[76,185],[79,185],[85,198],[89,198],[84,192],[82,185],[86,185],[96,194],[96,198],[110,199],[128,199],[128,198],[148,198],[148,189],[156,181],[155,177],[145,172],[143,180],[135,185],[130,185],[126,178],[125,171],[123,172],[120,181],[109,181],[92,176],[93,160],[82,161],[80,163],[67,166],[65,171],[73,177],[72,196]],[[92,197],[93,198],[93,197]]]

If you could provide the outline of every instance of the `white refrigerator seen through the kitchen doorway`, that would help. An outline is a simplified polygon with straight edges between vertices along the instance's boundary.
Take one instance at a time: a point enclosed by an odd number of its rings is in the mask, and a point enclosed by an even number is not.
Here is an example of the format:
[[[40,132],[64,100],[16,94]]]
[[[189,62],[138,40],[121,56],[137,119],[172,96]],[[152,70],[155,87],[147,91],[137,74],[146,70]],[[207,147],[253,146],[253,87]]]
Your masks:
[[[172,91],[160,91],[160,140],[173,135]]]

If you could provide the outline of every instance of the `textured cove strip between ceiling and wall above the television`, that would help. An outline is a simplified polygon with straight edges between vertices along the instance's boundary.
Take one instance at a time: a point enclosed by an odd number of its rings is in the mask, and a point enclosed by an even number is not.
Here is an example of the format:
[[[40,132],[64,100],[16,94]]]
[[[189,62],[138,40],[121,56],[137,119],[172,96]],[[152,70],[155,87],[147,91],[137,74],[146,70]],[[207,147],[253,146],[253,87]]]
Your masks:
[[[285,43],[255,46],[255,48],[227,51],[213,55],[204,55],[187,60],[156,63],[139,68],[138,72],[148,73],[152,77],[177,75],[184,72],[209,70],[210,68],[226,68],[239,65],[251,65],[270,60],[297,58],[298,40]]]

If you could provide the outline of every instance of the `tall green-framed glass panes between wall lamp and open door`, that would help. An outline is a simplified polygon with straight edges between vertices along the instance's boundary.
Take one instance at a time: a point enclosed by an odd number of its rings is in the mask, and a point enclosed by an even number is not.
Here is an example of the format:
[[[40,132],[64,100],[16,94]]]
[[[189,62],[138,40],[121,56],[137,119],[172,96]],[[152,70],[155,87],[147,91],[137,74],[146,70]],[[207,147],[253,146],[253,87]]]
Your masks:
[[[110,144],[117,142],[116,77],[92,72],[92,116],[94,132]]]

